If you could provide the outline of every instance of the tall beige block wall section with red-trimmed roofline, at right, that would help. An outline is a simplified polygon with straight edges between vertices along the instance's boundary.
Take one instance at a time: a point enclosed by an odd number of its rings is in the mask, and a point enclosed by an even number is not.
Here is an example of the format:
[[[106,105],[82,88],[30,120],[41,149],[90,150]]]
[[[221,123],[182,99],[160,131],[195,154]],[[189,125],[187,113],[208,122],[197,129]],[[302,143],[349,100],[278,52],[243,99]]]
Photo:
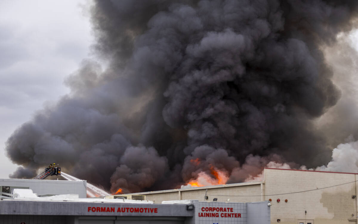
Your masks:
[[[314,224],[347,224],[357,216],[357,198],[352,198],[357,195],[356,174],[279,169],[265,169],[264,174],[265,200],[272,199],[271,223],[310,219]]]

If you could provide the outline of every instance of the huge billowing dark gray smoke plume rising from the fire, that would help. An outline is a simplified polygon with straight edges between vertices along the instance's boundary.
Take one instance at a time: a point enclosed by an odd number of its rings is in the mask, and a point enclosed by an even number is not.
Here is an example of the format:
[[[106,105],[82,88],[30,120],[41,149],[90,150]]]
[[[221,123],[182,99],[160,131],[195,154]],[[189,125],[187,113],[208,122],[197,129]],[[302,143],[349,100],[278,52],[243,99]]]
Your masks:
[[[97,1],[95,49],[109,66],[85,60],[66,80],[71,94],[11,135],[8,156],[26,168],[11,177],[55,161],[129,192],[177,187],[212,167],[232,183],[271,160],[326,164],[332,149],[313,120],[340,91],[321,47],[352,29],[357,6]]]

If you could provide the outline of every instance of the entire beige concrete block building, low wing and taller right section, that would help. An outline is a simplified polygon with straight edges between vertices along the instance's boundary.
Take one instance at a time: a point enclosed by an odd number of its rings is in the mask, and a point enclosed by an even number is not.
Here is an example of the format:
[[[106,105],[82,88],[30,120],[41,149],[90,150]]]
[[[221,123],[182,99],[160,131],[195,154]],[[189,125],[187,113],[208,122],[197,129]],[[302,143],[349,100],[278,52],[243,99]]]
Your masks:
[[[146,200],[253,202],[271,200],[271,223],[357,223],[355,173],[271,169],[263,181],[136,193]],[[125,195],[118,195],[125,196]]]

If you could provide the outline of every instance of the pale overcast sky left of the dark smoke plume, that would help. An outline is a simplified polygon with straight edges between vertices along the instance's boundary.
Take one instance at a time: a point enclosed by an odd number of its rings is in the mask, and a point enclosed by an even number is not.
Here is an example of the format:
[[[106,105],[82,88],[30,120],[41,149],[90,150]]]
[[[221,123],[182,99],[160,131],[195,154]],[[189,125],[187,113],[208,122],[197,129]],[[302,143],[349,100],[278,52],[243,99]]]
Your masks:
[[[63,85],[93,43],[88,0],[0,1],[0,178],[17,165],[5,141],[45,103],[69,92]]]

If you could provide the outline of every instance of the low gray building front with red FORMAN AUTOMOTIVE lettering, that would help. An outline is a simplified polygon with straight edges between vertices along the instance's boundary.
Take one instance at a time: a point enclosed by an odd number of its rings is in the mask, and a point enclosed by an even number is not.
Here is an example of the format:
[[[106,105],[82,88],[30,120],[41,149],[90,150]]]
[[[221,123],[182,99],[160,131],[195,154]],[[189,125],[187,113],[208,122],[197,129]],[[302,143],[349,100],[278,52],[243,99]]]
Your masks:
[[[0,200],[2,224],[269,224],[270,207],[258,203],[184,204]],[[106,201],[107,200],[107,201]],[[108,202],[111,200],[113,202]]]

